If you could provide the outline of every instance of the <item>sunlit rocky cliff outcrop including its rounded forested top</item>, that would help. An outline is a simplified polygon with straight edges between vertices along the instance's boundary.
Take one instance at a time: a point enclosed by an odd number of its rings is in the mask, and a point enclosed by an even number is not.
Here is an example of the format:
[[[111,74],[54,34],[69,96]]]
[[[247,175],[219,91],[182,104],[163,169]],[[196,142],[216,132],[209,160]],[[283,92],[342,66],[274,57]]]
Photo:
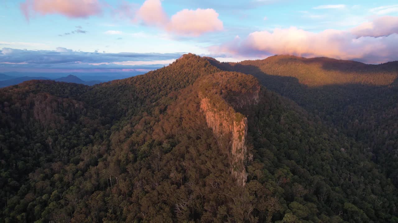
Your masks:
[[[207,79],[207,88],[199,93],[200,109],[206,117],[207,126],[217,138],[226,139],[230,150],[231,173],[238,185],[246,184],[245,164],[248,160],[246,136],[247,118],[237,108],[258,103],[260,87],[249,75],[226,72]]]

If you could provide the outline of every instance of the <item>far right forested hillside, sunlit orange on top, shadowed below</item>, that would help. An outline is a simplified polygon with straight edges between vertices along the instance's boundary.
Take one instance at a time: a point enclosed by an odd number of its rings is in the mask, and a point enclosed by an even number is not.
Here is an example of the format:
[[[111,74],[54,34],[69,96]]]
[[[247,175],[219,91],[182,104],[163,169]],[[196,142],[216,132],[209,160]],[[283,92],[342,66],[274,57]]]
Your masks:
[[[241,63],[211,63],[256,76],[325,123],[363,142],[398,185],[398,63],[367,65],[330,58],[273,56]]]

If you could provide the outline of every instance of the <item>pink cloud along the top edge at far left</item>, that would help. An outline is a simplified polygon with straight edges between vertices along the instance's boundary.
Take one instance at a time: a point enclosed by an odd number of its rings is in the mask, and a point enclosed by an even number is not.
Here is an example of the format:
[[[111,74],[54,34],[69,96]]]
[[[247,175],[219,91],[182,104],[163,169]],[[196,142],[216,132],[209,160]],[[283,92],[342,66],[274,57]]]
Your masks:
[[[98,0],[26,0],[21,11],[29,20],[32,14],[61,14],[70,18],[86,18],[102,13]]]

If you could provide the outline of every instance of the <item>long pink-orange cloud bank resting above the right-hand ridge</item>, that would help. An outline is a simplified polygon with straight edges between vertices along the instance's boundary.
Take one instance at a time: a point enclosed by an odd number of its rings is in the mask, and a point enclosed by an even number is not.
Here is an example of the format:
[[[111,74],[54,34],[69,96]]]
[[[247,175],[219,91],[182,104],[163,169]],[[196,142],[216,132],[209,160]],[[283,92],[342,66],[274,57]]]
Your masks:
[[[352,31],[327,29],[320,33],[296,27],[250,33],[244,39],[212,46],[211,52],[229,55],[266,57],[291,54],[304,57],[330,57],[364,63],[398,60],[398,30],[392,19],[382,17],[371,25],[362,24]],[[383,21],[392,21],[383,23]]]

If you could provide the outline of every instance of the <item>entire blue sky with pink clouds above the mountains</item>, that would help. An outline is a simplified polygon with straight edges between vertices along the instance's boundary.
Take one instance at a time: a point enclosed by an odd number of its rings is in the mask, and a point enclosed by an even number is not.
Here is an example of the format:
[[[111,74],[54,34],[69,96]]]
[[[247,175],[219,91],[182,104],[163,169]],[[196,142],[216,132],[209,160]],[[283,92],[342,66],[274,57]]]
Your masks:
[[[185,52],[398,60],[392,0],[2,0],[0,24],[0,72],[148,69]]]

